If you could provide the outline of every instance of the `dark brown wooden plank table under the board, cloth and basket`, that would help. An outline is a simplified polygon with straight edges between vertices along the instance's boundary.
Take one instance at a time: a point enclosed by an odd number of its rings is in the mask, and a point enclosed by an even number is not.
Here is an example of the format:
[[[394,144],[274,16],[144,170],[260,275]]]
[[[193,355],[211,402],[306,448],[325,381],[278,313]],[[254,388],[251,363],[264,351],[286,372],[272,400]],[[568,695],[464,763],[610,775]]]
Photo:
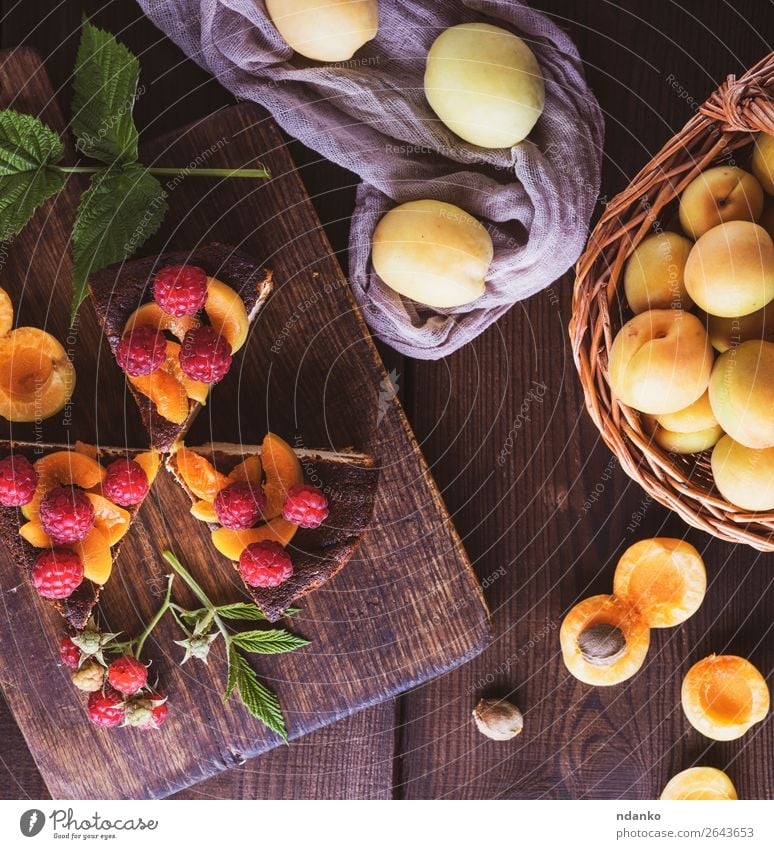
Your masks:
[[[533,5],[571,33],[605,113],[600,209],[726,74],[772,49],[772,0]],[[130,0],[1,0],[0,9],[2,46],[36,47],[65,102],[82,13],[116,33],[142,61],[136,118],[146,138],[233,102]],[[288,144],[346,269],[356,178]],[[726,768],[742,797],[774,797],[774,722],[712,744],[679,707],[684,672],[712,651],[750,657],[774,683],[774,558],[687,529],[616,467],[583,409],[565,330],[571,289],[568,274],[441,362],[382,349],[484,582],[492,647],[395,702],[182,797],[653,798],[672,774],[698,763]],[[628,686],[585,687],[561,661],[562,616],[576,600],[609,592],[620,553],[657,534],[685,536],[702,551],[707,599],[681,628],[654,632],[648,663]],[[473,729],[481,694],[522,707],[516,741],[490,742]],[[1,700],[0,741],[0,796],[47,796]]]

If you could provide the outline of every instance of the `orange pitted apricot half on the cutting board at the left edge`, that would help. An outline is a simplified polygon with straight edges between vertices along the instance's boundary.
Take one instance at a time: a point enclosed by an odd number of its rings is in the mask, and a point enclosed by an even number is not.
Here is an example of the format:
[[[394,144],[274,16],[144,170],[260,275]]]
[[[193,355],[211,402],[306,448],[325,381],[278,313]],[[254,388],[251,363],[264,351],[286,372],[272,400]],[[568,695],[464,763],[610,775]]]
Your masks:
[[[19,327],[0,338],[0,415],[32,422],[58,413],[75,389],[65,349],[45,330]]]

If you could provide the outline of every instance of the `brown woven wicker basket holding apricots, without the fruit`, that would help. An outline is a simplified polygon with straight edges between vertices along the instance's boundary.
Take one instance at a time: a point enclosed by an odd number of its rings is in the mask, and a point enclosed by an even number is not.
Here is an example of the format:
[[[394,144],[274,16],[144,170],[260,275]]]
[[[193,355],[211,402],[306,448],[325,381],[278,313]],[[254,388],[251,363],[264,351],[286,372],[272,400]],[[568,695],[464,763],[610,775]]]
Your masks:
[[[659,448],[636,410],[613,397],[607,373],[613,338],[632,315],[622,294],[626,259],[659,221],[669,220],[697,174],[728,162],[760,130],[774,134],[774,52],[740,79],[728,77],[607,206],[576,266],[569,329],[586,407],[626,473],[689,524],[774,551],[774,512],[745,512],[723,499],[713,486],[710,452],[680,456]]]

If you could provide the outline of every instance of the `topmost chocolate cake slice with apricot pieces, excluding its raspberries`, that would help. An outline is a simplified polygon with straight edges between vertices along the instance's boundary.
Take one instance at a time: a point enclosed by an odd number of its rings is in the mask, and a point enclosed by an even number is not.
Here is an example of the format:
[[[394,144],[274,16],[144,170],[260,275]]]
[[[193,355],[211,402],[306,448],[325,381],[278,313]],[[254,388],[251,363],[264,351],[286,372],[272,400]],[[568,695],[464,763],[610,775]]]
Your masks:
[[[206,301],[193,315],[171,315],[154,300],[159,272],[179,266],[190,267],[202,280],[206,275]],[[152,373],[126,377],[151,444],[168,451],[185,437],[211,389],[208,383],[191,379],[180,365],[186,333],[209,325],[235,355],[271,294],[272,274],[237,248],[213,243],[110,266],[92,275],[89,291],[114,355],[124,335],[142,325],[155,328],[166,339],[161,366]]]

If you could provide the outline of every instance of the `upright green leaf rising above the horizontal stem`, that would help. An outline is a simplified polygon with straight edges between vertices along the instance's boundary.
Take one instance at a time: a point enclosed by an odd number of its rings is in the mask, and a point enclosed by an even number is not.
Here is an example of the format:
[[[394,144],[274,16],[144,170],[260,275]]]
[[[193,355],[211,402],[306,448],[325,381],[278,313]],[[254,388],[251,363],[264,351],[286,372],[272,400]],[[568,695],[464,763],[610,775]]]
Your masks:
[[[83,22],[73,72],[72,129],[78,149],[108,164],[137,161],[132,109],[140,63],[109,32]]]

